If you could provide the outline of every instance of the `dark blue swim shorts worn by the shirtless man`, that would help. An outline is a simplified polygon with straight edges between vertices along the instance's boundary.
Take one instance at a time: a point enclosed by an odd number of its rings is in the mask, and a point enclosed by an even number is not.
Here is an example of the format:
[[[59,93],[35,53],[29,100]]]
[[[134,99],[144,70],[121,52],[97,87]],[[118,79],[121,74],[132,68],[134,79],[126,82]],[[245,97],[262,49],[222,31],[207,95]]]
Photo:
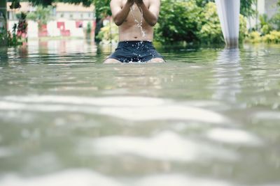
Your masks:
[[[121,41],[116,51],[107,59],[116,59],[123,63],[147,62],[151,59],[163,57],[153,47],[151,41]],[[163,59],[164,60],[164,59]]]

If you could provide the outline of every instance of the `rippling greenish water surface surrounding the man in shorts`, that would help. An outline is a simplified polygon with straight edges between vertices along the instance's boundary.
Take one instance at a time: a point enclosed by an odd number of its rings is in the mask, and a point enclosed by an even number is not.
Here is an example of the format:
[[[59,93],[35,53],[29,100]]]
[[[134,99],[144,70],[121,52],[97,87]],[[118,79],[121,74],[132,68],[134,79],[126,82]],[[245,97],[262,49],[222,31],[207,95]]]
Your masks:
[[[280,185],[279,49],[103,65],[111,47],[84,40],[9,48],[0,185]]]

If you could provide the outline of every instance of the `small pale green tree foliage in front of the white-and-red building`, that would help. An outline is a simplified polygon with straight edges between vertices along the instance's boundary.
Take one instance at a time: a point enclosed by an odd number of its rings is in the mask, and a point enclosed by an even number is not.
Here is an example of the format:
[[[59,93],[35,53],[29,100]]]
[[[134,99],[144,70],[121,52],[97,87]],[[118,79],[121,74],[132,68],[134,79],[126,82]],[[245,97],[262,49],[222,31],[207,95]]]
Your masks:
[[[28,13],[27,19],[38,22],[39,27],[47,24],[48,21],[52,20],[52,6],[36,6],[34,12]]]

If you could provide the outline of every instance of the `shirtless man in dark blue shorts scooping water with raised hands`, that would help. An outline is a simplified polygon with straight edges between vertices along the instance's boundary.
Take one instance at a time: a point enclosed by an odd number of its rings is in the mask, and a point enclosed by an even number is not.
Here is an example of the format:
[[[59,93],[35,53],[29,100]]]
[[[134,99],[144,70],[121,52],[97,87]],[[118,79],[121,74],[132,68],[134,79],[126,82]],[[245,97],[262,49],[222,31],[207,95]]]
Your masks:
[[[165,62],[152,43],[160,0],[111,0],[111,11],[120,42],[104,63]]]

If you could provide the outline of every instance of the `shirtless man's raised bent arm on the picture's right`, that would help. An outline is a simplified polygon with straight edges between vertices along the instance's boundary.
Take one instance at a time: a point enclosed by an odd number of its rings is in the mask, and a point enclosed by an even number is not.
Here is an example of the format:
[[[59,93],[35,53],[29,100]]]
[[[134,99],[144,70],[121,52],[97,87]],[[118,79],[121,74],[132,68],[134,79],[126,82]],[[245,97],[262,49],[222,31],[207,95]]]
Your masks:
[[[152,0],[148,8],[143,0],[135,0],[135,3],[143,10],[143,17],[146,22],[150,26],[155,26],[158,22],[158,15],[160,14],[160,0]]]

